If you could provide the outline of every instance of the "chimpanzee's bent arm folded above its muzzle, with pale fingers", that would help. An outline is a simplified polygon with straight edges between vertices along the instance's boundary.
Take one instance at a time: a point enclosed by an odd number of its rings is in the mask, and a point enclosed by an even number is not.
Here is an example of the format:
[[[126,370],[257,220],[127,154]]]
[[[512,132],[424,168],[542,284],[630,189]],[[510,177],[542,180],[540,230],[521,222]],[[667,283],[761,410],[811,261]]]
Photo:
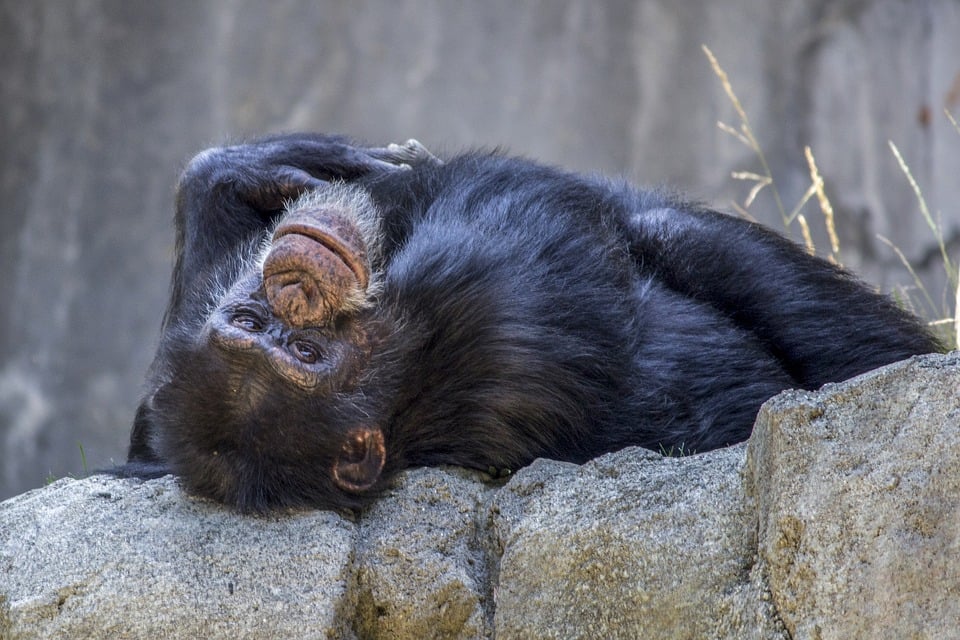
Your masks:
[[[177,261],[166,325],[201,313],[190,293],[208,289],[217,270],[256,242],[285,204],[330,180],[396,172],[421,154],[415,141],[363,148],[319,134],[265,138],[197,155],[177,190]]]

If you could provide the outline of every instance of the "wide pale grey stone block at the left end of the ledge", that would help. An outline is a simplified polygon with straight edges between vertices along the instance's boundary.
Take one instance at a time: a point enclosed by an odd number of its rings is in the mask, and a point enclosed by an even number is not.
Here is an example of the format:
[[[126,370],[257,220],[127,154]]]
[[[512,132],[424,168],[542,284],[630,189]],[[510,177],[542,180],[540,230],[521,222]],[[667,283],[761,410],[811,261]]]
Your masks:
[[[60,480],[0,504],[0,638],[327,638],[356,527],[243,517],[171,478]]]

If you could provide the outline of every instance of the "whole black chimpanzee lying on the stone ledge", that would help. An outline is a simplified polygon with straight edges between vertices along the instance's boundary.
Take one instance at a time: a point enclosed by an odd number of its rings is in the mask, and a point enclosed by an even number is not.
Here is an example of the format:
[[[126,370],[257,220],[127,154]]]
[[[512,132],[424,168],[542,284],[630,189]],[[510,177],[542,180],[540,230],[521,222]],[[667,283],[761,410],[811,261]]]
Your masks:
[[[121,475],[241,511],[398,471],[746,439],[760,404],[938,345],[741,219],[505,157],[285,135],[205,151]]]

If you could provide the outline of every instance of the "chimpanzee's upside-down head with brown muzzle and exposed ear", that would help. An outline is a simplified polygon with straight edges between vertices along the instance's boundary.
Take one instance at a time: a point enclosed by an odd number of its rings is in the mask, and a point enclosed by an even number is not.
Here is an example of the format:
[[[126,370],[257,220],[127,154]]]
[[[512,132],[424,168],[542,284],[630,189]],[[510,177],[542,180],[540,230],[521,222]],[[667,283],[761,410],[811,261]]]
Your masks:
[[[247,511],[354,506],[380,478],[383,434],[355,393],[378,322],[350,213],[286,214],[172,349],[153,398],[157,447],[193,492]]]

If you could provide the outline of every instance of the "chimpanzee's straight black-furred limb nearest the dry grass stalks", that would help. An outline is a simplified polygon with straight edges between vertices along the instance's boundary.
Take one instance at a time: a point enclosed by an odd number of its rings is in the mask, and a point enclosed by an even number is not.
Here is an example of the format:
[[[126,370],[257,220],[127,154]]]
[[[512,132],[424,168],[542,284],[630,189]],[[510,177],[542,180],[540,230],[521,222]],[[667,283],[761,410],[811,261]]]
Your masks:
[[[805,387],[938,349],[889,298],[760,225],[633,198],[628,226],[641,268],[753,331]]]

